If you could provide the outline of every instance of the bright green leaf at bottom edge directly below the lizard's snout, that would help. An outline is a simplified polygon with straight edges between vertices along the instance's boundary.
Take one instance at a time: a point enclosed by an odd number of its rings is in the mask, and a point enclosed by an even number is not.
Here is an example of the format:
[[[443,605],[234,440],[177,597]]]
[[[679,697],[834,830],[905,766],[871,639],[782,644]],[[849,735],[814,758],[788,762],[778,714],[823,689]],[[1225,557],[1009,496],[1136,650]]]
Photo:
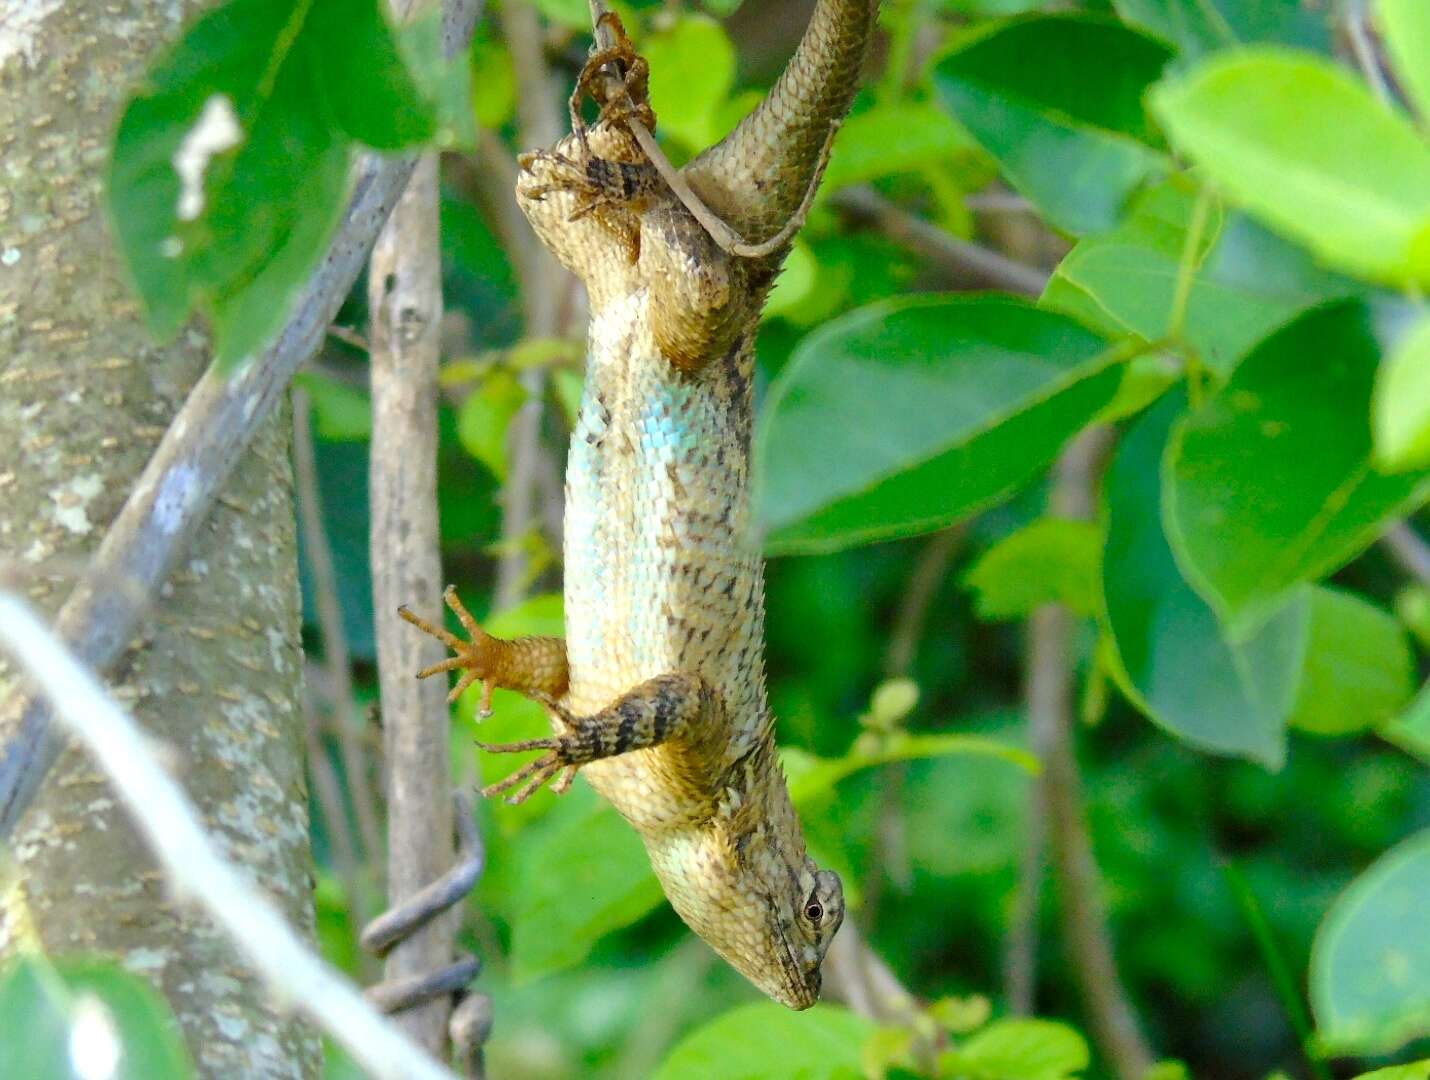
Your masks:
[[[654,1080],[858,1080],[874,1021],[839,1006],[755,1001],[682,1039]]]

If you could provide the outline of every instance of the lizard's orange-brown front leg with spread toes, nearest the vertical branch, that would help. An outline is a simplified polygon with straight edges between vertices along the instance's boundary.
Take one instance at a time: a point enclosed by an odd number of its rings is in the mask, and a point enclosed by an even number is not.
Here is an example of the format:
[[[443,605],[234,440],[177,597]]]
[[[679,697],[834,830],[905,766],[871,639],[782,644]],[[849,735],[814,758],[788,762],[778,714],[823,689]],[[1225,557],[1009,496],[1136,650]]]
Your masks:
[[[460,671],[462,675],[448,694],[448,701],[456,701],[462,691],[480,681],[482,704],[478,712],[485,718],[492,714],[492,691],[498,687],[539,699],[555,699],[566,692],[571,674],[566,665],[565,641],[539,637],[511,641],[493,638],[466,609],[453,586],[448,585],[442,598],[458,617],[468,634],[468,641],[445,627],[415,615],[406,607],[398,608],[398,615],[422,632],[430,634],[456,654],[418,672],[418,678],[428,678],[445,671]]]

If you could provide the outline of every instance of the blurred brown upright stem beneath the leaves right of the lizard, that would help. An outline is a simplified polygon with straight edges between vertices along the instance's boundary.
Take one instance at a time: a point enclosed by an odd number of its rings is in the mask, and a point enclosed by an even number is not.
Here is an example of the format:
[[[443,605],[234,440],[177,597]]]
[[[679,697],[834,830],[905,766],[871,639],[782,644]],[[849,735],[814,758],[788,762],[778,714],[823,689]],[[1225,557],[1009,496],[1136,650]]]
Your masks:
[[[1110,439],[1107,428],[1093,428],[1064,451],[1054,476],[1052,514],[1093,516],[1095,475]],[[1071,612],[1060,604],[1040,608],[1028,624],[1028,722],[1034,752],[1044,762],[1041,792],[1031,813],[1045,815],[1062,937],[1072,954],[1093,1037],[1121,1080],[1140,1080],[1151,1067],[1153,1054],[1117,974],[1103,877],[1093,855],[1072,747],[1072,625]],[[1037,908],[1031,911],[1035,917]],[[1031,983],[1031,970],[1028,977]]]

